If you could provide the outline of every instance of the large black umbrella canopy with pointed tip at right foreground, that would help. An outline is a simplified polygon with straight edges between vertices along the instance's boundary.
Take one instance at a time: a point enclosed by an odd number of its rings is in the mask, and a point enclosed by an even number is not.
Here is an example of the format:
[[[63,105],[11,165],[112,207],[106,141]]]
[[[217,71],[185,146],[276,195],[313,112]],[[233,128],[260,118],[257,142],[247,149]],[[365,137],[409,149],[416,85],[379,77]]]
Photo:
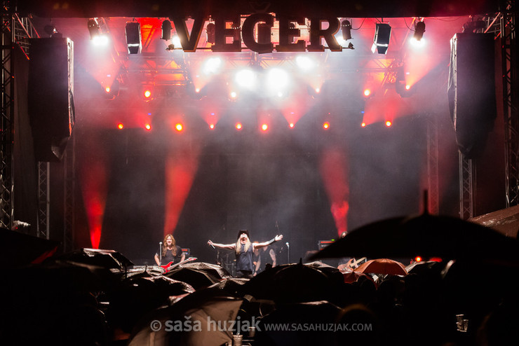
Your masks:
[[[424,213],[377,221],[352,230],[311,259],[422,256],[519,263],[518,244],[517,240],[476,223]]]

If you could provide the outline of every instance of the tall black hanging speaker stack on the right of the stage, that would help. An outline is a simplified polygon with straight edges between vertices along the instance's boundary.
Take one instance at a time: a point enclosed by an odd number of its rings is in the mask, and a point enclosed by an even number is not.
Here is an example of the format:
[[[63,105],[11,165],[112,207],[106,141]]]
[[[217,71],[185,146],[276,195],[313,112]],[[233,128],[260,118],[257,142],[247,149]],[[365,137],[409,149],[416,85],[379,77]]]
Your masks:
[[[459,151],[483,153],[497,116],[493,34],[459,33],[450,40],[448,98]]]

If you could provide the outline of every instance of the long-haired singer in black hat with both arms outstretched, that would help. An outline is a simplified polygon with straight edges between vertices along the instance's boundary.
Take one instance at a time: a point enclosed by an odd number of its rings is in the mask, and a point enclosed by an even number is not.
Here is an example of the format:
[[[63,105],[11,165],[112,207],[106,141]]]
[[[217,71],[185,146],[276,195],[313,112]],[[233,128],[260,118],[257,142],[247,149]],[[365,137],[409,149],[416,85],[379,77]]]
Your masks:
[[[278,242],[283,239],[283,235],[276,235],[268,242],[252,243],[249,239],[248,230],[238,231],[238,241],[234,244],[217,244],[208,240],[208,245],[218,249],[234,250],[236,255],[236,277],[252,277],[252,271],[254,265],[252,263],[252,256],[255,249],[261,249],[262,247],[268,247],[274,242]]]

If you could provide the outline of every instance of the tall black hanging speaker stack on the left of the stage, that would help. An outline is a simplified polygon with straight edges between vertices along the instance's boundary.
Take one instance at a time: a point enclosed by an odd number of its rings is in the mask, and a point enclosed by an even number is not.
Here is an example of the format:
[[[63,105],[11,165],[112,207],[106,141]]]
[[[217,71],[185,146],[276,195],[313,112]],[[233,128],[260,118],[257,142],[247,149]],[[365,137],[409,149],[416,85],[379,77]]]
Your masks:
[[[74,43],[31,39],[28,108],[39,161],[58,162],[74,127]]]

